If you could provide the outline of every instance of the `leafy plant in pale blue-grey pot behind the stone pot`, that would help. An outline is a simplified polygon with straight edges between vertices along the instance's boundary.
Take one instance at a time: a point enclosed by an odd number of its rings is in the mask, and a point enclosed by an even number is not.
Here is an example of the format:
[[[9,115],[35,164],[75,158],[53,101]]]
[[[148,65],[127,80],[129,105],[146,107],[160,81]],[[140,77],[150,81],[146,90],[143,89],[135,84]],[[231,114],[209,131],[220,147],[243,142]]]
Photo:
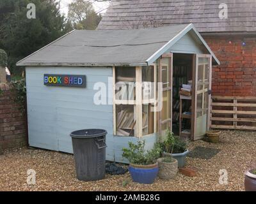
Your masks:
[[[173,136],[173,133],[170,132],[170,130],[166,132],[166,135],[166,140],[168,140],[170,137],[173,137],[174,142],[168,148],[166,148],[166,145],[163,144],[163,155],[172,156],[174,159],[177,159],[179,168],[184,167],[186,164],[186,156],[189,153],[189,150],[187,149],[187,143],[184,142],[179,136]]]

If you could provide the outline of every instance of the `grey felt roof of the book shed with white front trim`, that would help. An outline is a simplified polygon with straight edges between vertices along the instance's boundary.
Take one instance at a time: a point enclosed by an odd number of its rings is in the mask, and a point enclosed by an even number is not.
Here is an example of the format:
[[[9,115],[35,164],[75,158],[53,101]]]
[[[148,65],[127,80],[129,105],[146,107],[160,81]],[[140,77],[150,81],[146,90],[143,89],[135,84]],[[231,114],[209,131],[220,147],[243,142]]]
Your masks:
[[[17,62],[17,66],[145,66],[189,31],[218,59],[192,24],[120,31],[72,31]]]

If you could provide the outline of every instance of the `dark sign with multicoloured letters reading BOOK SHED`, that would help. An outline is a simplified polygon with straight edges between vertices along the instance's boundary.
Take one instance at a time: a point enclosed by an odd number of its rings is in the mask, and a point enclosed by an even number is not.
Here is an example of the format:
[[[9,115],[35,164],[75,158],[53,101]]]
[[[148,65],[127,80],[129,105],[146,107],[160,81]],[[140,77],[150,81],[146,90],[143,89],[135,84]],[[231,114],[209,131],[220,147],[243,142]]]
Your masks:
[[[44,75],[44,85],[54,87],[86,87],[85,75]]]

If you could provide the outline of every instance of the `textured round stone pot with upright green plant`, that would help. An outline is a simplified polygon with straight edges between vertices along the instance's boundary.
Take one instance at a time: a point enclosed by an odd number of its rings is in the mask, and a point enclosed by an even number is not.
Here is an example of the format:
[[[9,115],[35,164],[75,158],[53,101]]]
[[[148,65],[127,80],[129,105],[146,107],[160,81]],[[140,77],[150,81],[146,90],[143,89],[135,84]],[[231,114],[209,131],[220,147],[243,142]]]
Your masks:
[[[164,140],[163,145],[166,152],[170,153],[170,155],[157,159],[159,164],[158,176],[160,179],[173,179],[178,172],[178,161],[172,157],[174,144],[175,138],[173,133],[170,130],[166,131],[166,140]]]

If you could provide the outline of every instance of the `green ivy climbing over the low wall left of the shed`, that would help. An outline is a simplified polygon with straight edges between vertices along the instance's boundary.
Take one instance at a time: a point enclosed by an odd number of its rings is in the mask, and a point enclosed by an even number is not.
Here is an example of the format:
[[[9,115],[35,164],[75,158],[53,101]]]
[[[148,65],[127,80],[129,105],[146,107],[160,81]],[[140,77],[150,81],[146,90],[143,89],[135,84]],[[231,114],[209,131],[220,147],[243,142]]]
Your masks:
[[[15,92],[14,102],[20,105],[20,112],[25,112],[26,107],[26,80],[11,82],[12,91]]]

